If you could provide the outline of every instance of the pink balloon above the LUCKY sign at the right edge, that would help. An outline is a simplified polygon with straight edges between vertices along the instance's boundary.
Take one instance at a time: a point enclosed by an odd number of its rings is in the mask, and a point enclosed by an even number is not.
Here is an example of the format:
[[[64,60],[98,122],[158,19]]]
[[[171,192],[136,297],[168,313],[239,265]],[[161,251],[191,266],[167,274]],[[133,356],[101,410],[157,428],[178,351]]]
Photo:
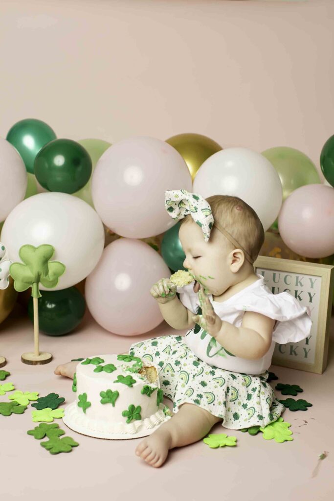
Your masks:
[[[284,243],[305,258],[334,253],[334,188],[324,184],[300,186],[284,200],[278,215]]]

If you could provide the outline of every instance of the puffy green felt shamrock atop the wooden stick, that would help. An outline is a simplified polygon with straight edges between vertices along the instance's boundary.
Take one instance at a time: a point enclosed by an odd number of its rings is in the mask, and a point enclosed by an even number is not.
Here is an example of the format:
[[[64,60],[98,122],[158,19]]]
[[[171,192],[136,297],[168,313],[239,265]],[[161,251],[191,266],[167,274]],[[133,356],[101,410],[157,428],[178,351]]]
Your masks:
[[[22,245],[19,256],[24,263],[12,263],[10,274],[14,279],[14,289],[23,292],[32,288],[33,298],[40,298],[39,283],[44,287],[52,288],[58,284],[59,277],[66,270],[65,265],[59,261],[49,260],[55,253],[55,247],[43,243],[38,247],[34,245]]]

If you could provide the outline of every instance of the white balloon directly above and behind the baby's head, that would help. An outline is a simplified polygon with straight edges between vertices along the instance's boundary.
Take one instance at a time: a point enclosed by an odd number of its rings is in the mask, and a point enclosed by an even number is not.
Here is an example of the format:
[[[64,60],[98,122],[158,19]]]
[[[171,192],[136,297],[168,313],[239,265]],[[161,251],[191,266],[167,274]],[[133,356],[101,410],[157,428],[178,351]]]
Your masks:
[[[274,166],[248,148],[226,148],[211,155],[198,169],[192,191],[204,198],[238,196],[255,210],[264,231],[278,216],[283,199]]]

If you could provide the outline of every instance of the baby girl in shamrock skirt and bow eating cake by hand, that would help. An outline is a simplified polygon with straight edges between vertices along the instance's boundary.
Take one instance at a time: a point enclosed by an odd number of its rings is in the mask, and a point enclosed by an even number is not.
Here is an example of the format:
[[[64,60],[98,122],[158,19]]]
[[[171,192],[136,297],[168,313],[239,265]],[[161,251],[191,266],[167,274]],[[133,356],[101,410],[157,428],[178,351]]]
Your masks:
[[[183,266],[195,285],[181,288],[164,278],[150,291],[165,321],[186,329],[185,337],[151,338],[129,350],[150,356],[164,396],[173,401],[172,418],[136,448],[154,467],[218,422],[238,430],[276,421],[284,406],[266,382],[275,343],[301,341],[311,328],[305,307],[287,292],[273,295],[255,273],[264,230],[247,203],[182,189],[166,191],[165,206],[181,220]],[[60,365],[55,374],[73,378],[76,366]]]

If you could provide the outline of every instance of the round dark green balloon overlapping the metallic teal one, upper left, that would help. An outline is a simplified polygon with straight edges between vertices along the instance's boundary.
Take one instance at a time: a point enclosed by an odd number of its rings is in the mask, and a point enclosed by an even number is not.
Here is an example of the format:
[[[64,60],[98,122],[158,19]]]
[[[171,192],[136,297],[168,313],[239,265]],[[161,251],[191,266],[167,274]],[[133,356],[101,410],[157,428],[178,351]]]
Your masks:
[[[38,153],[34,170],[38,182],[49,191],[75,193],[88,183],[92,160],[76,141],[55,139]]]

